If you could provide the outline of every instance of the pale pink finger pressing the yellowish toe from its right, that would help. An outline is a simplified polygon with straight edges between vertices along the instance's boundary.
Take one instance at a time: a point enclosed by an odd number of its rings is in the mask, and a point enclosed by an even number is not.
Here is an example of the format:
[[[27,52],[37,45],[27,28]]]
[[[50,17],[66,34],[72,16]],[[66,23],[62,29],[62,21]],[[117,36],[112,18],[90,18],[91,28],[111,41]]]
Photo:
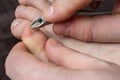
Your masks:
[[[95,69],[108,67],[104,61],[69,49],[55,39],[47,41],[46,54],[53,63],[66,68]]]

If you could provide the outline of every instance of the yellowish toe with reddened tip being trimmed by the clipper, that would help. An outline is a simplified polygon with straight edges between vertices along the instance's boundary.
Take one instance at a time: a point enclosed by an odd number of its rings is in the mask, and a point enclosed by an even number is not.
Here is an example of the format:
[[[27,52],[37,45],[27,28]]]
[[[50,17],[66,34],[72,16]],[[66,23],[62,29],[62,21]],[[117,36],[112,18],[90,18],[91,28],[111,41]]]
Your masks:
[[[47,37],[42,31],[39,29],[33,30],[30,26],[26,26],[22,33],[22,40],[31,53],[39,59],[47,62],[47,57],[44,51]]]

